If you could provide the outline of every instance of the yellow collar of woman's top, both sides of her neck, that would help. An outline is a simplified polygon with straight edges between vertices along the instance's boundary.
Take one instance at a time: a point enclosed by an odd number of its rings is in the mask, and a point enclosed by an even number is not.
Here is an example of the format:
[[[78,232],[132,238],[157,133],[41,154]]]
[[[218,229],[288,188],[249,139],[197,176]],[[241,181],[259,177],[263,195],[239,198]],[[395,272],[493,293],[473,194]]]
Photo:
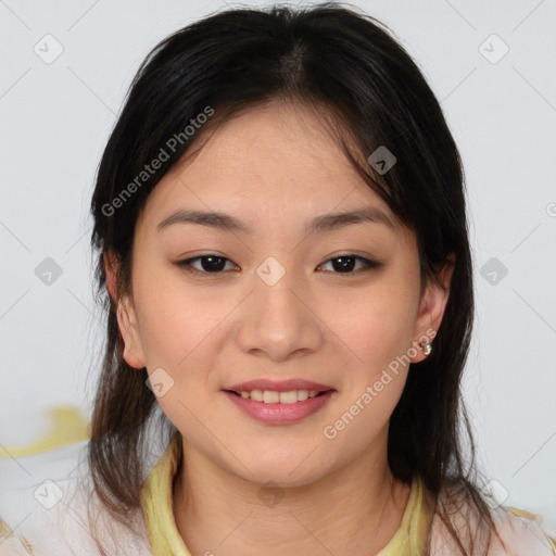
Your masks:
[[[173,510],[173,483],[180,457],[181,435],[176,433],[141,490],[141,506],[154,556],[191,556],[178,532]],[[377,556],[421,556],[431,518],[424,504],[421,481],[416,478],[402,523]]]

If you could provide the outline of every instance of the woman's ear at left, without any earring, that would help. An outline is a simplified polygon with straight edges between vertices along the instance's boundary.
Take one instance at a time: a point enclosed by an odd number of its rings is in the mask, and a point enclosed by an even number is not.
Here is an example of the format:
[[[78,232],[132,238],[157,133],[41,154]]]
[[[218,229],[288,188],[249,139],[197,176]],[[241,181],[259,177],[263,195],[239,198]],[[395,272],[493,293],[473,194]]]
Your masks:
[[[106,273],[106,288],[112,301],[117,305],[117,324],[124,339],[124,359],[130,367],[143,368],[146,359],[132,300],[128,295],[119,298],[117,291],[119,260],[115,253],[104,253],[104,270]]]

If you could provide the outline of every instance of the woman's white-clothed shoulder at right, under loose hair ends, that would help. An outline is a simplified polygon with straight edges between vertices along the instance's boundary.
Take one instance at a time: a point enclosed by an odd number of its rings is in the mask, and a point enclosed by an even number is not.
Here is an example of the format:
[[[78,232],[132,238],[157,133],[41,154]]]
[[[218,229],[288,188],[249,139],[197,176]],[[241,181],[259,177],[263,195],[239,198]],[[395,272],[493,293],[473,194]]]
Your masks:
[[[462,504],[458,510],[451,515],[451,518],[458,535],[464,539],[464,544],[472,539],[476,546],[482,547],[490,533],[488,556],[556,555],[554,531],[548,532],[545,529],[541,515],[502,505],[491,507],[491,515],[496,526],[497,535],[489,528],[484,519],[477,516],[468,502]],[[434,515],[432,519],[431,547],[432,554],[435,556],[460,554],[457,544],[438,515]]]

